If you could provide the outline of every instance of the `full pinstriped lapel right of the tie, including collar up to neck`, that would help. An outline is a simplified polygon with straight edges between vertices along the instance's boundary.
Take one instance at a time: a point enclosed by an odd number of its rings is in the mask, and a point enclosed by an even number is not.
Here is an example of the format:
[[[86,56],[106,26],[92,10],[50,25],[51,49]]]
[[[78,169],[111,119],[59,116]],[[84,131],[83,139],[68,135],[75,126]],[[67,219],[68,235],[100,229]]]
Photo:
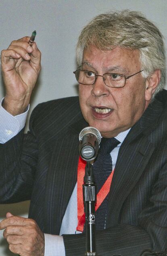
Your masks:
[[[121,145],[109,192],[106,226],[118,224],[121,207],[152,156],[155,145],[149,135],[157,126],[162,109],[162,104],[154,100]]]

